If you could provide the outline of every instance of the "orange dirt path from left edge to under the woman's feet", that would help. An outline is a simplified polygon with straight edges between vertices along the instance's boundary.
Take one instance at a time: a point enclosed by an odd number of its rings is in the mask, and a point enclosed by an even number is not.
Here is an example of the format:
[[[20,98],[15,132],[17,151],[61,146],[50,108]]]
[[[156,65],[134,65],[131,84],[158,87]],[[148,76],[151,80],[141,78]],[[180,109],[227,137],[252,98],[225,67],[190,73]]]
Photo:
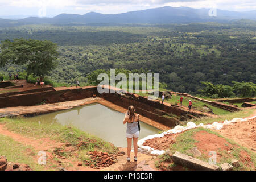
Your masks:
[[[24,146],[30,146],[32,147],[35,152],[44,151],[46,152],[46,160],[47,164],[44,166],[44,170],[60,170],[65,169],[68,171],[73,170],[79,170],[79,171],[97,171],[97,169],[86,167],[86,166],[78,166],[81,161],[76,159],[65,159],[61,158],[59,156],[55,156],[58,159],[54,160],[53,156],[53,150],[58,147],[65,146],[64,143],[57,142],[55,140],[51,140],[49,138],[32,138],[32,137],[24,137],[20,134],[13,133],[12,131],[9,131],[5,129],[3,124],[0,124],[0,134],[5,135],[7,137],[11,137],[17,142],[22,143]],[[68,149],[68,147],[66,147]],[[131,152],[131,162],[127,162],[127,148],[119,148],[119,151],[122,151],[122,156],[117,156],[118,163],[113,164],[112,166],[109,166],[108,168],[101,168],[100,170],[110,170],[110,171],[152,171],[156,170],[154,167],[154,159],[155,157],[142,154],[138,152],[138,161],[133,161],[134,153]],[[30,155],[32,151],[27,150],[24,151],[26,155]],[[30,155],[31,156],[31,155]],[[40,156],[35,155],[33,157],[35,163],[38,162],[38,158]],[[51,165],[50,165],[51,164]],[[57,167],[52,167],[52,164],[55,164]],[[70,165],[71,164],[71,165]]]

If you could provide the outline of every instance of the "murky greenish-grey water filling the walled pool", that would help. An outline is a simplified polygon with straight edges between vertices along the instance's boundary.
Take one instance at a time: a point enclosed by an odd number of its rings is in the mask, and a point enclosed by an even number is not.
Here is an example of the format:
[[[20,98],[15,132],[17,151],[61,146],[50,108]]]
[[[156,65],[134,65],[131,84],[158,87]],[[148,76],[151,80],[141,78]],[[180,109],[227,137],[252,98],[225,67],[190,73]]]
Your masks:
[[[41,123],[59,122],[61,125],[73,125],[82,131],[113,143],[117,147],[127,147],[126,125],[122,123],[123,117],[125,114],[104,105],[89,104],[27,119]],[[140,124],[139,139],[160,131],[146,123],[140,122]]]

